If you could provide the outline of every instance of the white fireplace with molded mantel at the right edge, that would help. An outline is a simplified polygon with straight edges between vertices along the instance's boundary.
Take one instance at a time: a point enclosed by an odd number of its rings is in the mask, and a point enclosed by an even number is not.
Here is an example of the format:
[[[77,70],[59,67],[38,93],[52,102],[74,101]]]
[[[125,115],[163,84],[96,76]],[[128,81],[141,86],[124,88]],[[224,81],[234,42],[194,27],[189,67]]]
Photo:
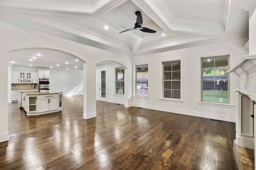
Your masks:
[[[256,55],[243,56],[228,70],[235,74],[235,90],[238,95],[236,116],[236,143],[240,147],[256,147],[256,124],[252,115],[256,113]],[[256,149],[254,149],[254,156]],[[254,159],[256,166],[256,159]]]

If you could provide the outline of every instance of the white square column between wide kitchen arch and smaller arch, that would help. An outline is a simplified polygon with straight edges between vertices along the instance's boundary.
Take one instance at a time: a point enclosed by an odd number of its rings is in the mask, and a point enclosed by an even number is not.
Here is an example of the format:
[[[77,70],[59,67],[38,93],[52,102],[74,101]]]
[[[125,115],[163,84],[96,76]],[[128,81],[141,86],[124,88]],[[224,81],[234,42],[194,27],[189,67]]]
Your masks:
[[[84,64],[84,119],[96,117],[96,63]]]

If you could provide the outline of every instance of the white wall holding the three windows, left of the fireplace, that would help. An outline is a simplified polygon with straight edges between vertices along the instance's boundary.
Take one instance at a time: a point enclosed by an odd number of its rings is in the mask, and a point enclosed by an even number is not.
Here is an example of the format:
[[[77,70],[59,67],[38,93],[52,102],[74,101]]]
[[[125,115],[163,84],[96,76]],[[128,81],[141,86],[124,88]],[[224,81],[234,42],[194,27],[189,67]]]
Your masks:
[[[234,76],[232,74],[230,74],[231,103],[229,105],[203,104],[200,102],[200,57],[230,54],[230,66],[232,66],[241,56],[248,54],[248,51],[243,48],[247,40],[248,39],[238,39],[134,57],[134,65],[148,64],[150,97],[149,99],[134,98],[134,106],[235,122],[237,113],[236,107],[238,105],[236,100],[237,96],[234,92]],[[162,70],[160,63],[161,61],[171,59],[183,59],[183,102],[160,100],[162,93]],[[135,79],[133,79],[133,81],[134,80]],[[196,109],[194,109],[194,107],[196,107]]]

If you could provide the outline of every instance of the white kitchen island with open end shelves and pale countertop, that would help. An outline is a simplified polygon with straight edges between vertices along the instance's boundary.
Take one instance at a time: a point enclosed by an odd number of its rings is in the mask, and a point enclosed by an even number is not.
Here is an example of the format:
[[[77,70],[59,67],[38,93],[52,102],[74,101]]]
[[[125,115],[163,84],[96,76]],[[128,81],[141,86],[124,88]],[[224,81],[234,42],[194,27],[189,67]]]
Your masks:
[[[62,109],[62,92],[36,92],[22,90],[19,94],[19,106],[27,115],[42,115]]]

